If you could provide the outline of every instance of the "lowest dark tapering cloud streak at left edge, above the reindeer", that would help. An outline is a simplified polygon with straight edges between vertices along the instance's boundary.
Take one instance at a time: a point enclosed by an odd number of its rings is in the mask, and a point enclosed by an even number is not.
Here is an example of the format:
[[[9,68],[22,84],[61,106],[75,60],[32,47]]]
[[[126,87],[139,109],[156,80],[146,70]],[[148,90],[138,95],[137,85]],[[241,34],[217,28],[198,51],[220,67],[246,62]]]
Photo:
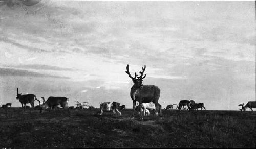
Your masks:
[[[32,72],[28,70],[11,69],[11,68],[0,68],[0,76],[49,77],[49,78],[70,79],[68,77],[53,76],[50,74],[42,74],[42,73]]]

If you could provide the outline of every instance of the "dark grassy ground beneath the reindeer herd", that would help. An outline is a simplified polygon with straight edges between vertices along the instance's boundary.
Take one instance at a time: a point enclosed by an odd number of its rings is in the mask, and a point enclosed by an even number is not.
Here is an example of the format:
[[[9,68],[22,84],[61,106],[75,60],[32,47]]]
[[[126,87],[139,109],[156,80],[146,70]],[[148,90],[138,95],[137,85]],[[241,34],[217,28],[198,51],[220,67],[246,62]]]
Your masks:
[[[22,112],[0,109],[0,147],[224,147],[254,148],[256,112],[163,110],[163,119],[96,110]]]

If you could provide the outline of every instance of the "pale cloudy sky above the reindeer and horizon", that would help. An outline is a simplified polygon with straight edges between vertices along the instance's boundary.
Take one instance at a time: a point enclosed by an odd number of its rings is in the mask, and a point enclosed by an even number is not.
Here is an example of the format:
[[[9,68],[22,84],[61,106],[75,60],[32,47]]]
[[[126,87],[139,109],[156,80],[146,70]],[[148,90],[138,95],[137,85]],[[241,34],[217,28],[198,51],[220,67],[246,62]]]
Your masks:
[[[0,104],[20,107],[19,88],[132,108],[129,64],[163,108],[238,110],[255,101],[255,24],[253,1],[1,2]]]

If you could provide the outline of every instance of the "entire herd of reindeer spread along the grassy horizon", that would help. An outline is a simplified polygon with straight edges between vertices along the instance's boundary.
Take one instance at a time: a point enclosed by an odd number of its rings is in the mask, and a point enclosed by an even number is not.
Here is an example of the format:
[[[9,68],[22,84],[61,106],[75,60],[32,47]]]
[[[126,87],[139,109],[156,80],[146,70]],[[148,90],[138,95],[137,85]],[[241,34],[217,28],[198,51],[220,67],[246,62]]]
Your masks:
[[[146,66],[142,67],[142,71],[140,71],[139,75],[135,72],[134,77],[131,75],[129,71],[129,65],[126,66],[126,73],[128,74],[128,77],[130,77],[134,83],[134,85],[131,87],[130,91],[130,97],[133,101],[133,113],[132,113],[132,119],[135,117],[135,112],[138,112],[140,115],[140,120],[143,119],[143,116],[149,116],[150,111],[154,113],[154,116],[161,116],[162,118],[162,106],[159,104],[158,100],[160,98],[160,89],[156,85],[144,85],[142,84],[143,79],[146,77],[146,74],[144,74],[146,69]],[[40,104],[40,100],[36,98],[36,95],[34,94],[24,94],[18,92],[17,88],[17,97],[16,99],[19,100],[20,104],[22,104],[22,108],[26,110],[26,104],[30,104],[32,109],[38,109],[40,110],[40,113],[43,113],[46,109],[50,109],[49,111],[53,110],[56,107],[62,107],[63,109],[72,109],[74,106],[68,107],[68,101],[69,99],[67,97],[53,97],[50,96],[46,101],[44,97],[41,97],[43,102]],[[34,102],[37,100],[39,102],[39,105],[34,107]],[[137,106],[136,103],[138,102]],[[184,106],[187,107],[187,110],[198,110],[201,108],[201,110],[206,110],[204,107],[204,103],[195,103],[194,100],[180,100],[179,104],[173,104],[173,105],[167,105],[165,110],[173,109],[174,105],[176,105],[176,109],[181,110]],[[10,106],[11,103],[7,103],[5,105],[2,105],[2,108],[6,108]],[[244,104],[240,104],[239,106],[242,106],[240,111],[245,111],[246,108],[249,108],[251,111],[252,108],[256,108],[256,101],[250,101],[245,106]],[[94,109],[92,107],[91,109]],[[121,111],[125,109],[125,105],[120,106],[120,103],[118,102],[104,102],[100,103],[99,112],[97,112],[99,115],[103,114],[103,111],[106,112],[113,112],[116,114],[116,112],[121,115]]]

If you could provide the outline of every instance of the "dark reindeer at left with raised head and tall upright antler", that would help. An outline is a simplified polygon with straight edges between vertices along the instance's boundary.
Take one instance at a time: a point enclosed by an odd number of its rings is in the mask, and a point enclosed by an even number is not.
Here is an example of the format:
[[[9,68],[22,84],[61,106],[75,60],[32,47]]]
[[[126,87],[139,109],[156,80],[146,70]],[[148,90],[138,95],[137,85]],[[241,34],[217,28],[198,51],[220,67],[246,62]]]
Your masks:
[[[31,107],[34,108],[34,102],[35,100],[37,100],[36,96],[34,94],[26,94],[26,95],[22,95],[18,93],[18,88],[17,88],[17,100],[19,100],[19,102],[22,104],[22,108],[23,105],[26,109],[26,104],[30,103]]]

